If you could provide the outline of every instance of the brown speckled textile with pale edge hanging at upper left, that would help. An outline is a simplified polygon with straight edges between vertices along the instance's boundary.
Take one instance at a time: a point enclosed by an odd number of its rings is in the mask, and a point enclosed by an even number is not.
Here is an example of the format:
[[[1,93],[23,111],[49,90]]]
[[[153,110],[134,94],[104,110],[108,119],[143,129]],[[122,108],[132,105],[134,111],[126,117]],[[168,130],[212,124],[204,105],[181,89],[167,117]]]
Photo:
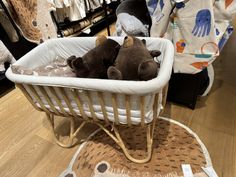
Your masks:
[[[8,0],[8,3],[13,20],[27,40],[40,43],[57,37],[47,1]]]

